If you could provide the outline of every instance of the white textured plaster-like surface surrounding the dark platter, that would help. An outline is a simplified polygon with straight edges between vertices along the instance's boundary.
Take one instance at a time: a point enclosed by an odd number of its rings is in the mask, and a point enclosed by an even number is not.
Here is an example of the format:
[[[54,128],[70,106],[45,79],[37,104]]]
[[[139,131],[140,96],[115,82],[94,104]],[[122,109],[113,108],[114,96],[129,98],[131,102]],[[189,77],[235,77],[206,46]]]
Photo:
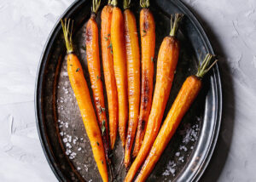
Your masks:
[[[184,0],[220,57],[224,112],[217,149],[201,181],[256,180],[256,1]],[[57,181],[34,117],[38,61],[73,0],[0,2],[0,181]]]

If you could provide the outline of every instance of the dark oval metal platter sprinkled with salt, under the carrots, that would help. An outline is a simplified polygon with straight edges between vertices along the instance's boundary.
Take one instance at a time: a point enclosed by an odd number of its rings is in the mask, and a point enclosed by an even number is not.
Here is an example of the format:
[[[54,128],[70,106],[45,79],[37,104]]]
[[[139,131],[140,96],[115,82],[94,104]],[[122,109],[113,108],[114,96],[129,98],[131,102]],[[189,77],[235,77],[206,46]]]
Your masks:
[[[138,20],[139,4],[133,2],[135,1],[131,1],[131,9]],[[150,3],[156,24],[155,58],[157,58],[160,43],[169,34],[171,14],[185,14],[177,36],[181,43],[181,51],[172,91],[166,105],[165,119],[185,78],[195,74],[198,60],[201,60],[207,53],[213,54],[213,51],[195,15],[182,2],[156,0]],[[102,4],[102,7],[103,5],[105,4]],[[74,20],[73,44],[89,87],[84,27],[90,18],[90,7],[90,0],[76,1],[61,16],[61,19]],[[101,11],[96,18],[99,30],[100,14]],[[155,67],[156,64],[155,61]],[[108,102],[107,97],[105,99]],[[60,22],[57,22],[50,33],[38,66],[35,109],[44,154],[57,179],[61,181],[101,181],[90,149],[90,141],[80,117],[79,107],[68,81],[66,49]],[[201,174],[207,168],[218,139],[221,112],[221,82],[218,65],[214,65],[212,71],[203,79],[201,93],[183,118],[148,181],[197,181],[200,179]],[[118,139],[113,150],[114,173],[121,162],[122,150]],[[124,178],[125,169],[116,180],[122,181]]]

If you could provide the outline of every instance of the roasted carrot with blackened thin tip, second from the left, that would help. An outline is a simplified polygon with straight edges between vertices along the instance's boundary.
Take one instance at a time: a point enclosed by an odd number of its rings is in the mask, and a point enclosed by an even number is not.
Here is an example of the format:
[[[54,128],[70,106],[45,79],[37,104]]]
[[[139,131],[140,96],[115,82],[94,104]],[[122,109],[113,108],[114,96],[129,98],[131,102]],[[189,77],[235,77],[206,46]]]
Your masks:
[[[87,22],[85,30],[86,56],[88,71],[90,74],[90,83],[93,93],[94,104],[99,125],[102,129],[102,140],[105,149],[106,159],[110,163],[110,145],[108,138],[108,122],[104,103],[104,94],[101,79],[101,65],[99,55],[98,26],[96,24],[96,13],[101,1],[93,0],[93,7],[90,19]]]

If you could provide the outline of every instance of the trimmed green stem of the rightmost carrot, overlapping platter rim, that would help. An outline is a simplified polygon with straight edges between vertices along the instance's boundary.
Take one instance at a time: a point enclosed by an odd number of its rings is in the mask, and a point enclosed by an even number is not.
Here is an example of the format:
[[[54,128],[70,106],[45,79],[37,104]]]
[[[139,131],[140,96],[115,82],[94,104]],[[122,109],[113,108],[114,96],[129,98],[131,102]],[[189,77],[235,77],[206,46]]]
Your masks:
[[[212,66],[218,61],[214,60],[214,62],[211,64],[211,60],[214,58],[214,55],[207,54],[205,57],[205,60],[202,61],[201,65],[198,67],[197,73],[195,74],[196,77],[204,77],[205,74],[212,68]]]

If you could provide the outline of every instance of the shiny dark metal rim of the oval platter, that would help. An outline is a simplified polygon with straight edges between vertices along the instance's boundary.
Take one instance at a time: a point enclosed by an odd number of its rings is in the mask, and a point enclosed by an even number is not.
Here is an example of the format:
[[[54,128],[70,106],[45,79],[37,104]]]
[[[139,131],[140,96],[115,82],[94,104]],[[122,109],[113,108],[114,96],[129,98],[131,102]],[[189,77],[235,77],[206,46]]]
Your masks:
[[[51,168],[51,170],[53,171],[53,173],[55,173],[55,177],[59,180],[59,181],[65,181],[65,177],[64,175],[61,173],[59,168],[56,168],[54,163],[54,156],[52,155],[51,151],[49,150],[49,145],[47,142],[47,137],[44,134],[44,123],[42,122],[42,118],[41,118],[41,114],[42,111],[40,110],[40,105],[41,103],[41,99],[39,98],[39,95],[42,94],[42,92],[39,89],[39,82],[43,82],[42,80],[39,80],[39,77],[42,76],[42,71],[44,70],[44,62],[45,62],[45,55],[47,55],[47,53],[49,53],[49,47],[52,44],[52,37],[56,36],[56,31],[58,31],[58,29],[60,29],[60,20],[64,17],[67,17],[68,14],[70,13],[70,11],[72,11],[72,9],[76,9],[76,7],[79,7],[82,3],[84,2],[88,2],[89,0],[76,0],[74,1],[66,10],[63,14],[61,14],[61,16],[58,18],[58,20],[55,23],[55,26],[52,28],[52,30],[49,33],[49,37],[47,38],[45,44],[44,44],[44,48],[42,51],[42,54],[40,56],[40,60],[38,63],[38,70],[37,70],[37,76],[36,76],[36,82],[35,82],[35,93],[34,93],[34,107],[35,107],[35,117],[36,117],[36,122],[37,122],[37,129],[38,129],[38,136],[39,136],[39,140],[40,143],[42,145],[43,151],[44,151],[44,156],[47,159],[47,162],[49,163],[49,167]],[[173,3],[177,4],[177,8],[178,9],[182,9],[184,12],[186,12],[186,14],[189,14],[189,19],[191,20],[191,22],[194,24],[195,28],[197,31],[200,32],[201,34],[201,39],[205,42],[206,46],[207,46],[207,50],[209,53],[214,54],[213,49],[212,49],[212,44],[209,41],[208,37],[207,37],[207,33],[204,31],[203,26],[201,26],[201,21],[197,18],[197,16],[193,13],[193,11],[191,11],[181,0],[170,0]],[[220,75],[219,75],[219,70],[218,70],[218,64],[214,65],[213,69],[213,74],[212,76],[214,77],[215,80],[215,88],[216,88],[216,94],[217,94],[217,109],[215,114],[216,116],[216,121],[215,121],[215,125],[214,125],[214,130],[213,130],[213,134],[212,134],[212,139],[211,142],[208,146],[207,149],[207,153],[205,155],[205,158],[203,159],[202,165],[200,168],[198,168],[196,170],[196,173],[194,175],[194,177],[192,178],[192,181],[198,181],[199,179],[201,179],[202,174],[205,172],[211,158],[212,158],[212,153],[215,149],[215,146],[217,144],[218,141],[218,134],[219,134],[219,129],[220,129],[220,125],[221,125],[221,120],[222,120],[222,111],[223,111],[223,95],[222,95],[222,84],[221,84],[221,79],[220,79]],[[44,75],[44,73],[43,73]]]

